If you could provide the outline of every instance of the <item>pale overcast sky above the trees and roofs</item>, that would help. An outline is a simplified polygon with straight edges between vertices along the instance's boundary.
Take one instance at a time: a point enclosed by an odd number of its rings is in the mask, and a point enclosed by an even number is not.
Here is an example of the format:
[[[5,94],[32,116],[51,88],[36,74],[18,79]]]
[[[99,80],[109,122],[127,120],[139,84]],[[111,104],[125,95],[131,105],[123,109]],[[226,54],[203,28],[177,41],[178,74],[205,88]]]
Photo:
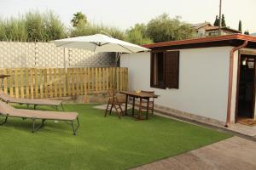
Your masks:
[[[227,26],[256,32],[256,0],[222,0]],[[73,14],[81,11],[91,22],[116,26],[126,30],[136,23],[148,23],[166,13],[181,16],[188,23],[214,22],[219,0],[0,0],[0,17],[25,14],[29,10],[52,10],[66,26],[71,26]]]

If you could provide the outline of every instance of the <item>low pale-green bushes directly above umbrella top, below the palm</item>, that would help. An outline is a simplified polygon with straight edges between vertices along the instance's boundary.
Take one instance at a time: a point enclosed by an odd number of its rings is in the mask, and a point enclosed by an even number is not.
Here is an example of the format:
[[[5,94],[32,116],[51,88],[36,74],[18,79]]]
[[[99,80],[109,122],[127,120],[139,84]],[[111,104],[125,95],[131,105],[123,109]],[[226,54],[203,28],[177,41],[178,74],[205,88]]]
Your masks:
[[[84,21],[79,22],[78,26],[70,30],[71,37],[88,36],[92,34],[107,32],[109,36],[123,40],[125,38],[124,31],[120,31],[116,27],[104,26],[97,24],[85,23]]]

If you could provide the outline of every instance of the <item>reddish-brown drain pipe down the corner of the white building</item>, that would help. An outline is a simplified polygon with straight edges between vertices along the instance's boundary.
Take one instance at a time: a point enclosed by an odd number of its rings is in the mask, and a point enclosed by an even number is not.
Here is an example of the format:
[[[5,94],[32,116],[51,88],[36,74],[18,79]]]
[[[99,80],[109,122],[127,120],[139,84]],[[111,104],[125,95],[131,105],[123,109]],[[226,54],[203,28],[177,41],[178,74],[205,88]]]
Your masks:
[[[244,41],[241,46],[236,48],[232,48],[230,51],[230,76],[229,76],[229,94],[228,94],[228,109],[227,109],[227,120],[225,127],[230,126],[230,115],[231,115],[231,100],[232,100],[232,88],[233,88],[233,66],[234,66],[234,54],[237,50],[241,48],[245,48],[247,46],[248,41]]]

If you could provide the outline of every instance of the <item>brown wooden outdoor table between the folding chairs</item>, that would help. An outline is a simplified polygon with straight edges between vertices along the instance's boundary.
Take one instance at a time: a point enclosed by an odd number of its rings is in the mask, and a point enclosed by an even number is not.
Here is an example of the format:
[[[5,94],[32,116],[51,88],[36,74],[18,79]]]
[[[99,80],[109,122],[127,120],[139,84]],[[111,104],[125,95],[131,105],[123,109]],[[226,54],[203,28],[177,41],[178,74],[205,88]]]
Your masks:
[[[126,99],[125,99],[125,116],[133,116],[139,120],[143,120],[143,119],[148,119],[148,108],[149,108],[149,99],[150,98],[158,98],[159,96],[156,94],[147,94],[147,93],[137,93],[135,91],[122,91],[119,92],[120,94],[125,94]],[[128,97],[132,97],[132,114],[128,115],[127,114],[127,105],[128,105]],[[135,98],[139,98],[140,99],[140,104],[139,104],[139,116],[136,117],[134,116],[134,106],[135,106]],[[146,112],[146,118],[142,118],[142,103],[143,103],[143,99],[147,100],[147,112]]]

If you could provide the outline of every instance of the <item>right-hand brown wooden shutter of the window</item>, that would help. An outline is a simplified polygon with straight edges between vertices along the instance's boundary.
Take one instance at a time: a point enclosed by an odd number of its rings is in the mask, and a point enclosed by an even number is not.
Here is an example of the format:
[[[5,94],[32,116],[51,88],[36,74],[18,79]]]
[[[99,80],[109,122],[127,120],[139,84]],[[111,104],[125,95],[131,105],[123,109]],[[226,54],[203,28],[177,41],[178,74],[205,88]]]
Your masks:
[[[166,88],[178,88],[179,52],[170,51],[165,54]]]

